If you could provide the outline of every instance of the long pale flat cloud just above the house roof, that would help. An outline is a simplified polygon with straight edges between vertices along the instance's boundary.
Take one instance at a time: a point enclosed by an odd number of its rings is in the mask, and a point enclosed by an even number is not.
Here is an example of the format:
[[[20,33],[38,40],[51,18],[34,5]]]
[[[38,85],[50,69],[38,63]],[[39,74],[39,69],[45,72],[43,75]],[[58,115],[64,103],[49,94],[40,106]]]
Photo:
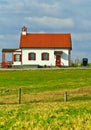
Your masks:
[[[71,18],[55,18],[55,17],[27,17],[26,21],[29,23],[37,23],[49,28],[72,28],[74,21]]]

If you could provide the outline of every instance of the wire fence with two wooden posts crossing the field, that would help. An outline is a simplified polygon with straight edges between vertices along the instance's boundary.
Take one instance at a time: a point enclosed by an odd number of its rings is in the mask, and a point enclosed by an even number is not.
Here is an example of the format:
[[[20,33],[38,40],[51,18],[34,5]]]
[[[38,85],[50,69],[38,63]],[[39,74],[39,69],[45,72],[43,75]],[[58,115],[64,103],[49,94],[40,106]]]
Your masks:
[[[71,91],[38,92],[31,89],[0,89],[0,105],[24,104],[37,102],[67,102],[67,101],[91,100],[91,89],[81,88]]]

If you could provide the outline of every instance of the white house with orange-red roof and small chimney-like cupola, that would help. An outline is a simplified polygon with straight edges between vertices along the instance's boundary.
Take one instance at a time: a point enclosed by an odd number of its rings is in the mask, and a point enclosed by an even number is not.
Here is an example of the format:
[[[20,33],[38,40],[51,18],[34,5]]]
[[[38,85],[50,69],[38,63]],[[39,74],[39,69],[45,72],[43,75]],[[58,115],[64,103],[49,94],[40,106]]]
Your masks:
[[[27,33],[23,26],[20,48],[11,50],[12,66],[70,66],[71,50],[70,34]],[[4,63],[5,52],[2,53]]]

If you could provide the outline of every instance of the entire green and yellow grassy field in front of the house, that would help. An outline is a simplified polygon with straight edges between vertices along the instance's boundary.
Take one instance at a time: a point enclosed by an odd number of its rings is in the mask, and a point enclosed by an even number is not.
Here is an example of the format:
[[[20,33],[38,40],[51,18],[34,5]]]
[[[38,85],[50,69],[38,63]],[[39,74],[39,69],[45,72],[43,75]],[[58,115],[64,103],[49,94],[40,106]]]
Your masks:
[[[3,70],[0,89],[0,130],[91,130],[90,69]]]

